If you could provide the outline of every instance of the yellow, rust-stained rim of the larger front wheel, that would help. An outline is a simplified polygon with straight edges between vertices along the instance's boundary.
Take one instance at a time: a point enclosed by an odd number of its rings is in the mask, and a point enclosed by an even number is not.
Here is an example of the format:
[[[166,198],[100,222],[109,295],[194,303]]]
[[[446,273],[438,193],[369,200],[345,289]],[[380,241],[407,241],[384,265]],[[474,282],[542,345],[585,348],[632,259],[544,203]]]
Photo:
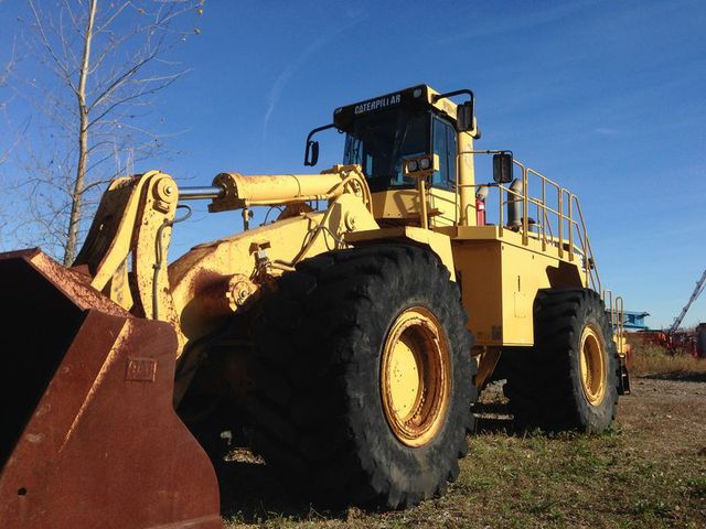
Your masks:
[[[421,306],[404,311],[383,348],[381,393],[387,423],[408,446],[431,441],[451,395],[449,345],[439,321]]]

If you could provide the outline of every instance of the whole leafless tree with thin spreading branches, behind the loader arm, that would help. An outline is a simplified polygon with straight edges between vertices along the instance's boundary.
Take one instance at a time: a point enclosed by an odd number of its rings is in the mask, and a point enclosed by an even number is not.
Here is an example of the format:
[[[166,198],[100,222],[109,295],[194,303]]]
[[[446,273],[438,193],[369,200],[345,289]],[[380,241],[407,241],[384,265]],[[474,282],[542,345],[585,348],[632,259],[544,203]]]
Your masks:
[[[43,68],[21,88],[38,111],[20,184],[33,215],[18,233],[63,252],[68,266],[105,184],[163,151],[150,107],[186,73],[176,46],[199,33],[203,0],[28,0],[28,8],[24,43]]]

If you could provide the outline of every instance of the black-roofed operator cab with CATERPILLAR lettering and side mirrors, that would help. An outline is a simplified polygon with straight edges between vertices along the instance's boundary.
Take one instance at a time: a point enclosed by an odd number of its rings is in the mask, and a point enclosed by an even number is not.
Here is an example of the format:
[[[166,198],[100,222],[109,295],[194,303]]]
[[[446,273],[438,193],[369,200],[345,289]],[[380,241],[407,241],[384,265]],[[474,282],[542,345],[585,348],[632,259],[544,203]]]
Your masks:
[[[449,97],[468,95],[470,100],[453,104]],[[460,132],[480,137],[473,119],[473,94],[458,90],[438,94],[419,85],[385,96],[339,107],[333,122],[310,132],[306,165],[314,165],[319,144],[312,137],[325,129],[345,132],[343,164],[360,165],[371,191],[376,218],[418,218],[415,202],[418,177],[406,173],[407,162],[416,160],[425,172],[431,202],[454,222]],[[469,138],[470,139],[470,138]],[[462,145],[463,147],[463,145]],[[428,168],[434,165],[434,171]],[[436,198],[435,198],[436,197]],[[446,203],[442,205],[442,203]],[[438,206],[438,207],[437,207]],[[449,208],[453,208],[450,210]]]

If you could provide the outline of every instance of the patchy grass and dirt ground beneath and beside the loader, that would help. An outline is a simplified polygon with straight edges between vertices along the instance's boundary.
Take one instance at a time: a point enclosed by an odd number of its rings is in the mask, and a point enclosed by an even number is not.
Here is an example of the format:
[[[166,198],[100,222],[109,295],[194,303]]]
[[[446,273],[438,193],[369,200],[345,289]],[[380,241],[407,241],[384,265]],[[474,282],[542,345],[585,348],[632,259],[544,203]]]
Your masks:
[[[706,527],[706,361],[663,356],[637,352],[641,375],[602,435],[515,436],[506,420],[481,421],[449,493],[406,511],[318,511],[240,451],[226,527]],[[499,388],[483,399],[500,401]]]

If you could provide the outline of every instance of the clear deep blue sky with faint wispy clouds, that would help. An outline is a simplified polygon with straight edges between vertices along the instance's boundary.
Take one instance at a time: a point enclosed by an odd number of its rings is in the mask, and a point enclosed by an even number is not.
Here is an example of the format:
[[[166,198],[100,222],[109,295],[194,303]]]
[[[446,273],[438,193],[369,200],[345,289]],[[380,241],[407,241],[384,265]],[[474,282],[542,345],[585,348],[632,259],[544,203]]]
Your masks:
[[[0,47],[23,9],[0,3]],[[706,268],[703,0],[213,0],[200,29],[179,51],[192,72],[152,112],[179,134],[151,165],[178,179],[302,172],[307,132],[336,106],[419,83],[469,87],[477,147],[512,149],[579,195],[601,278],[629,309],[670,324]],[[321,140],[323,169],[342,141]],[[172,257],[239,227],[201,208]],[[685,323],[697,321],[706,299]]]

